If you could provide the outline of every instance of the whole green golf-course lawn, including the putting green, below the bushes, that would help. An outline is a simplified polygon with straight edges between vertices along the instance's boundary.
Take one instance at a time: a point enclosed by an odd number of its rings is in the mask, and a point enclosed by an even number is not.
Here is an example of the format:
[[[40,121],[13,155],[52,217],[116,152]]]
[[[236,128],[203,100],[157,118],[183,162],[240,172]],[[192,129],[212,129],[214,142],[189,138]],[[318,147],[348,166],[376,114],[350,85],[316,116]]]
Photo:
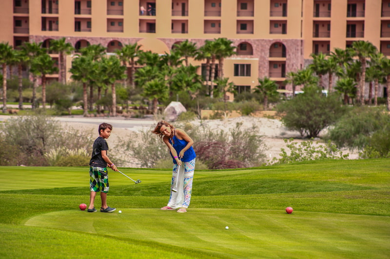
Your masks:
[[[0,258],[389,258],[386,159],[195,171],[184,214],[159,209],[166,170],[111,171],[118,214],[78,209],[88,168],[1,169]]]

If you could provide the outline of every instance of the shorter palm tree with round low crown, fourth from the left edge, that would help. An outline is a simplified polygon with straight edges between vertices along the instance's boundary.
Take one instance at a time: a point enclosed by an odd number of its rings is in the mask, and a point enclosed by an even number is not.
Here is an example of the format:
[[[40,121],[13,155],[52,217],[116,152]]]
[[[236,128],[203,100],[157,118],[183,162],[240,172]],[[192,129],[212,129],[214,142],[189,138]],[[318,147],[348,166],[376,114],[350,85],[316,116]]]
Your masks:
[[[56,61],[47,53],[35,57],[31,63],[31,71],[41,77],[43,109],[46,108],[46,75],[58,72],[58,68],[54,66],[55,63]]]

